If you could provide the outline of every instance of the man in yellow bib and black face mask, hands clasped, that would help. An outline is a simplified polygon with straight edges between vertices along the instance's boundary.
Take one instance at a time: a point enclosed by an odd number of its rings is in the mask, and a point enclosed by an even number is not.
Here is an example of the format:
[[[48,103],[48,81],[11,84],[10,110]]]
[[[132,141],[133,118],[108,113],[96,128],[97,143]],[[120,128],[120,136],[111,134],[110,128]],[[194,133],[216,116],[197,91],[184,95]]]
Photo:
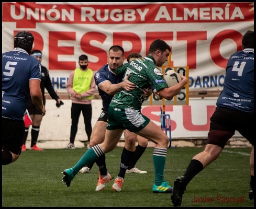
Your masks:
[[[92,69],[88,68],[88,57],[85,54],[79,56],[80,67],[70,73],[66,90],[68,90],[71,106],[71,130],[70,142],[67,149],[75,149],[74,141],[77,133],[77,125],[82,111],[84,117],[85,132],[88,137],[88,143],[92,134],[92,99],[97,90]]]

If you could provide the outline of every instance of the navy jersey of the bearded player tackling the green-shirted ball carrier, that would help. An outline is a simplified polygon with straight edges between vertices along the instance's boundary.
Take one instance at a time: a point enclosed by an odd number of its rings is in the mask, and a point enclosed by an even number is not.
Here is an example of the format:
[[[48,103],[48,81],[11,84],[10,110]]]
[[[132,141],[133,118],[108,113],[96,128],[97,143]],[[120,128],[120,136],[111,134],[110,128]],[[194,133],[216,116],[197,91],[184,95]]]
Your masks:
[[[108,64],[106,64],[103,67],[101,67],[101,69],[99,69],[97,73],[95,73],[94,79],[95,79],[95,83],[98,87],[99,84],[105,82],[106,80],[109,80],[112,84],[118,84],[118,83],[122,82],[123,78],[121,76],[119,77],[119,76],[115,75],[114,73],[112,73],[110,71],[110,68],[108,67]],[[102,97],[102,105],[103,105],[102,110],[108,111],[109,104],[114,95],[113,96],[108,95],[106,92],[101,90],[99,87],[98,87],[98,92],[99,92],[99,95]]]

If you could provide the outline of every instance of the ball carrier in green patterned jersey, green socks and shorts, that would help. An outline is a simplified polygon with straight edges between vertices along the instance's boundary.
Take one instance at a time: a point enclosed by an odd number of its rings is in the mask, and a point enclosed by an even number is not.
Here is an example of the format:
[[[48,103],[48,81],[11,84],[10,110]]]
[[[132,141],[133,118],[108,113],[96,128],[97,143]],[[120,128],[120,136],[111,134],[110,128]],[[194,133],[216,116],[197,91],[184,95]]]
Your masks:
[[[163,74],[157,66],[162,66],[168,61],[170,52],[170,46],[163,40],[157,39],[151,43],[148,56],[133,60],[115,70],[115,74],[122,76],[123,79],[129,78],[130,82],[136,85],[136,88],[131,90],[128,86],[115,94],[108,108],[108,123],[104,142],[88,149],[75,166],[63,171],[62,180],[67,187],[70,186],[71,181],[84,165],[111,152],[119,142],[123,130],[127,129],[155,143],[153,152],[155,170],[153,193],[172,192],[172,187],[168,182],[164,181],[163,175],[169,137],[159,129],[157,124],[141,114],[141,106],[144,101],[143,88],[151,89],[152,85],[154,85],[161,97],[169,99],[179,94],[187,83],[187,78],[183,75],[181,75],[182,81],[175,86],[168,88],[165,83]],[[121,166],[124,167],[124,170],[127,169],[131,156],[132,154],[130,155],[129,153],[126,157],[122,154],[123,165]],[[106,180],[102,182],[104,187],[111,178],[107,172]],[[112,189],[120,192],[123,185],[124,179],[118,175],[112,185]]]

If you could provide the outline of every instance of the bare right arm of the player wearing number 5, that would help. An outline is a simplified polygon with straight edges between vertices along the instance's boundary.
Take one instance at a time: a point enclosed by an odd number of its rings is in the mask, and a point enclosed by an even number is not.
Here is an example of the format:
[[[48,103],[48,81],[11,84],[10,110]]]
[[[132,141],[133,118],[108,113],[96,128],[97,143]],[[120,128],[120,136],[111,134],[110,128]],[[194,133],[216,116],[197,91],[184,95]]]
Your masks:
[[[29,80],[30,96],[34,105],[42,112],[42,115],[45,115],[46,109],[43,106],[42,91],[40,88],[40,83],[41,83],[41,80],[39,79]]]

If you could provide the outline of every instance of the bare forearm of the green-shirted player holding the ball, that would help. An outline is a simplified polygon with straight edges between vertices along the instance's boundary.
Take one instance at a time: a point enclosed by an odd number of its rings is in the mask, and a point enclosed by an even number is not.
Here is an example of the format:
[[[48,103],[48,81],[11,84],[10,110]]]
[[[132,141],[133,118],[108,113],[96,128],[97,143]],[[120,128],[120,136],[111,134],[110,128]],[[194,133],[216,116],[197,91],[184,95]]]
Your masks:
[[[180,74],[181,75],[181,74]],[[187,84],[187,78],[181,75],[181,82],[169,88],[162,88],[158,90],[158,93],[164,99],[170,100],[181,92],[181,89]]]

